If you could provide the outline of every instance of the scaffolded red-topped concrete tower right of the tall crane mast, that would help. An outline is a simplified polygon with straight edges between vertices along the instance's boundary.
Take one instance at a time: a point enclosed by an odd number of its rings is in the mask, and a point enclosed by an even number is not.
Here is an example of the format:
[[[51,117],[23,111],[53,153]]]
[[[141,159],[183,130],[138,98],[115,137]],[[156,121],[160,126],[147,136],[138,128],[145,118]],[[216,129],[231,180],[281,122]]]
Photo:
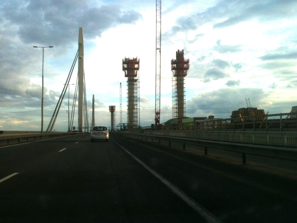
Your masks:
[[[176,59],[171,60],[172,71],[172,116],[186,116],[184,80],[189,70],[189,59],[184,59],[184,50],[176,51]]]

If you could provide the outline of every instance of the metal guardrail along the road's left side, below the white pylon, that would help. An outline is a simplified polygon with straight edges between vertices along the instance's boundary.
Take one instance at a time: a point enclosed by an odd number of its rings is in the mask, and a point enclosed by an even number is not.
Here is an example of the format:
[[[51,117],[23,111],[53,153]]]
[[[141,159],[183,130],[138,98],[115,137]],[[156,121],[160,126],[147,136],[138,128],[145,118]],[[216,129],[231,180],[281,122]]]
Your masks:
[[[75,134],[82,134],[83,132],[55,132],[55,133],[27,133],[27,134],[10,134],[10,135],[0,135],[0,145],[29,142],[41,139],[55,138],[61,136],[69,136]],[[5,143],[6,142],[6,143]]]

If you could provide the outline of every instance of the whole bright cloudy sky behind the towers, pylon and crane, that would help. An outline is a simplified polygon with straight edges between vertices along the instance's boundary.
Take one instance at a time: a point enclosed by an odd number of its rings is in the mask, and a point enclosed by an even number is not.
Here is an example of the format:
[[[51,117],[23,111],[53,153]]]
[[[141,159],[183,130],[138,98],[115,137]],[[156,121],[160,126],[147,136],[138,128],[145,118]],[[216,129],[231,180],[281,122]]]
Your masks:
[[[178,49],[190,60],[187,117],[228,118],[247,107],[246,98],[265,113],[290,112],[297,93],[296,11],[290,0],[162,1],[160,122],[172,118],[170,61]],[[156,1],[2,0],[0,23],[0,130],[40,131],[42,48],[34,45],[53,46],[44,49],[46,130],[78,49],[79,27],[95,123],[110,126],[109,105],[116,105],[120,122],[120,82],[127,122],[125,57],[140,59],[140,125],[154,123]],[[70,84],[77,68],[74,73]],[[67,109],[68,97],[56,131],[67,131]]]

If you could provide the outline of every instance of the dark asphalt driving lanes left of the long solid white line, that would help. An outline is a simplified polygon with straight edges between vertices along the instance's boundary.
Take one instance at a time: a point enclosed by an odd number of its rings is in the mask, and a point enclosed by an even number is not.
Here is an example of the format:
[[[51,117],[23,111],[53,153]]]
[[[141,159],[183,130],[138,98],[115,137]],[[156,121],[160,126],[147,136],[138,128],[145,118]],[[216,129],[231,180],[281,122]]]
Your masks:
[[[0,222],[206,222],[112,140],[68,136],[0,156],[1,177],[18,172],[0,182]]]

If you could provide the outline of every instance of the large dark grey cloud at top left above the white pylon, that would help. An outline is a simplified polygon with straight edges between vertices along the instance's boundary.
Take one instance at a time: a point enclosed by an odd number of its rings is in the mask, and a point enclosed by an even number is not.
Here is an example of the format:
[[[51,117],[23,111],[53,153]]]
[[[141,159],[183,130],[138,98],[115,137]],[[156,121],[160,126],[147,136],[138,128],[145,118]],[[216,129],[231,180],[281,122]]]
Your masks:
[[[24,43],[65,45],[77,41],[78,28],[85,38],[123,23],[135,23],[139,12],[122,11],[116,4],[89,8],[86,1],[4,1],[1,15],[18,29]]]

